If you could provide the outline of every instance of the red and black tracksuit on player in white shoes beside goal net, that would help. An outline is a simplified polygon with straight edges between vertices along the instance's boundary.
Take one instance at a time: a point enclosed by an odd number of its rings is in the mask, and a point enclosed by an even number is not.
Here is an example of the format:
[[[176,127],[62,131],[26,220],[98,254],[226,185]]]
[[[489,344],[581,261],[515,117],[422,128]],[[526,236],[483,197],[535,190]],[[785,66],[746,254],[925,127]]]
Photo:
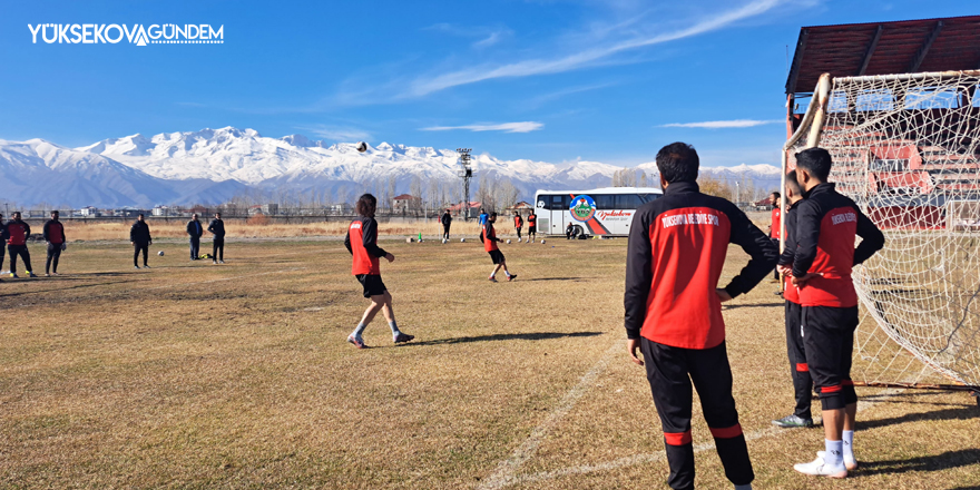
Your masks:
[[[821,274],[800,288],[806,365],[823,409],[837,410],[857,402],[851,381],[859,322],[851,270],[884,246],[884,235],[833,184],[820,184],[804,198],[796,210],[793,276]]]

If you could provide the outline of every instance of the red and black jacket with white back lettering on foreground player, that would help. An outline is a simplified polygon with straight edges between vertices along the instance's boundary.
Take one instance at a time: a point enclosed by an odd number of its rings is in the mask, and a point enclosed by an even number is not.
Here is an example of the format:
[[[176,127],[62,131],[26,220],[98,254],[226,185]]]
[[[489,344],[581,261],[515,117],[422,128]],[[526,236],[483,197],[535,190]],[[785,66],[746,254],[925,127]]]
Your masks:
[[[626,333],[683,349],[709,349],[725,340],[715,294],[728,244],[752,258],[725,286],[732,297],[755,287],[778,251],[745,213],[695,183],[674,183],[664,197],[637,209],[626,258]]]

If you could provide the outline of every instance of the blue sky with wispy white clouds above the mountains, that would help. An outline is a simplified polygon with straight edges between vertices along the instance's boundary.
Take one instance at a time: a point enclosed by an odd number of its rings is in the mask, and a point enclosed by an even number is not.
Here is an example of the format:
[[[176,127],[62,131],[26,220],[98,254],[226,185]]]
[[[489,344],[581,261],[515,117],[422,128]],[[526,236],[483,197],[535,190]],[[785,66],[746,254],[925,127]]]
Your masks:
[[[978,13],[940,0],[4,3],[2,139],[235,126],[616,165],[684,140],[709,166],[778,163],[800,27]],[[28,24],[49,22],[209,23],[224,43],[32,43]],[[734,120],[754,122],[700,127]]]

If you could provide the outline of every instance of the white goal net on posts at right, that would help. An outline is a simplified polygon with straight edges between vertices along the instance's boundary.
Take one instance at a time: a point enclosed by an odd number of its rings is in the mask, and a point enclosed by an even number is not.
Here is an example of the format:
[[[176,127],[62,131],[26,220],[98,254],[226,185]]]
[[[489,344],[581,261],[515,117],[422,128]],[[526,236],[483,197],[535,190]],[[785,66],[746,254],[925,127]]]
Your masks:
[[[886,238],[854,270],[855,381],[980,385],[980,71],[821,84],[786,165],[830,150],[831,180]]]

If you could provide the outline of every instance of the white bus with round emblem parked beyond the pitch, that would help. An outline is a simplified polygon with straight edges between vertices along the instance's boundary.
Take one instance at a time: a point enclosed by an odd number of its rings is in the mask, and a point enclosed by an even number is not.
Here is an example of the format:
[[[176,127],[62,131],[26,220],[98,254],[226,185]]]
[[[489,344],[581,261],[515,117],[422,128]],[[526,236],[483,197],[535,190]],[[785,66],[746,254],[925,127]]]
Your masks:
[[[578,235],[628,236],[636,208],[660,197],[655,187],[604,187],[591,190],[538,190],[538,233],[564,235],[571,223]]]

